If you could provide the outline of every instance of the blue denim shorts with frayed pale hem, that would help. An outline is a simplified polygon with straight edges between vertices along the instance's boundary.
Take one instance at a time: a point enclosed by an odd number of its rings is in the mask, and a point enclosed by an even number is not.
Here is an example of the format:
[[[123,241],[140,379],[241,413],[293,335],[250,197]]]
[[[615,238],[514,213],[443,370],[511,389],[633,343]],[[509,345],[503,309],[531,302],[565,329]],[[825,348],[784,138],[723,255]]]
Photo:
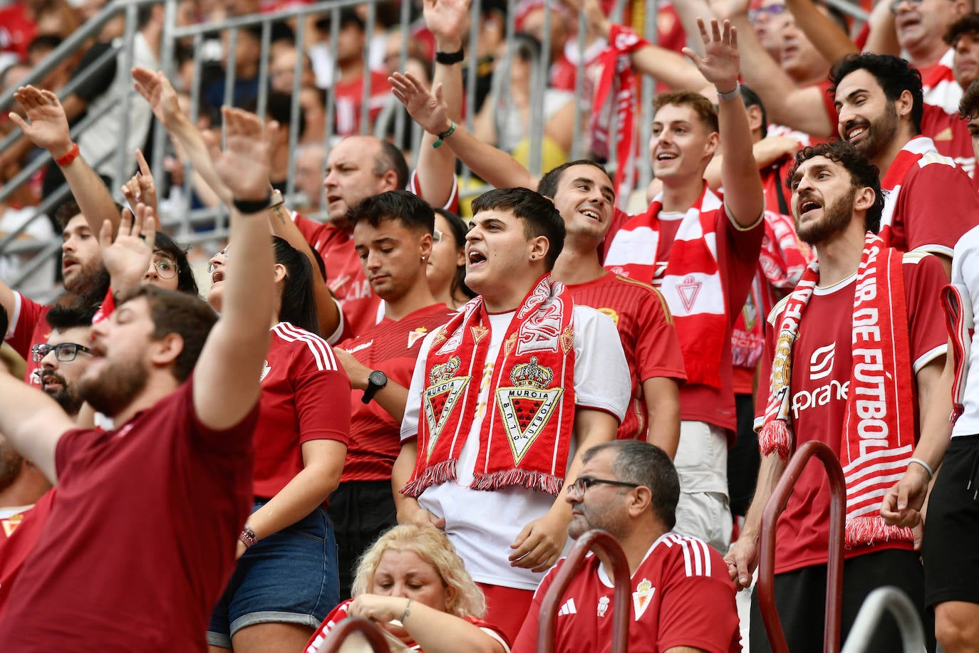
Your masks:
[[[265,503],[256,501],[253,512]],[[322,506],[257,541],[238,560],[210,616],[208,643],[231,648],[231,636],[256,624],[317,628],[340,602],[337,540]]]

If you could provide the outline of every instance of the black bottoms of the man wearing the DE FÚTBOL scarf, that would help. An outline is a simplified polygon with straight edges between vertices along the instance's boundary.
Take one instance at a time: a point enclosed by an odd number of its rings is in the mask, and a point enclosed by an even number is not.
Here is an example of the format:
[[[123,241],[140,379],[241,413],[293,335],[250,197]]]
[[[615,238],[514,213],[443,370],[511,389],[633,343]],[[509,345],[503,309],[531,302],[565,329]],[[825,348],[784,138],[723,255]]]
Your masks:
[[[867,595],[885,585],[894,585],[909,595],[922,618],[928,650],[935,650],[932,620],[925,621],[924,580],[916,551],[886,549],[859,555],[843,563],[843,610],[841,648],[857,619]],[[792,653],[822,653],[826,609],[826,565],[803,567],[775,575],[775,605],[782,622],[785,641]],[[771,651],[769,636],[758,605],[758,589],[751,597],[751,653]],[[904,650],[898,625],[886,613],[879,623],[867,653],[895,653]]]

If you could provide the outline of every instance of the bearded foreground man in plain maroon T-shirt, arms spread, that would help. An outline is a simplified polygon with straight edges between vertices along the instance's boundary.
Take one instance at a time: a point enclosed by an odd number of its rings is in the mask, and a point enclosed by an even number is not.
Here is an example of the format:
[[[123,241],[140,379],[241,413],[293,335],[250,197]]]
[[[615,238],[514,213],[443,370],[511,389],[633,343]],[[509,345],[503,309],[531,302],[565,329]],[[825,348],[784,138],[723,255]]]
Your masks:
[[[50,397],[0,378],[0,432],[58,485],[0,617],[6,648],[206,650],[252,507],[275,305],[269,144],[258,117],[225,108],[223,118],[227,149],[214,166],[235,198],[235,256],[220,317],[197,297],[144,285],[92,327],[79,395],[114,431],[75,429]],[[152,217],[137,210],[144,224]]]

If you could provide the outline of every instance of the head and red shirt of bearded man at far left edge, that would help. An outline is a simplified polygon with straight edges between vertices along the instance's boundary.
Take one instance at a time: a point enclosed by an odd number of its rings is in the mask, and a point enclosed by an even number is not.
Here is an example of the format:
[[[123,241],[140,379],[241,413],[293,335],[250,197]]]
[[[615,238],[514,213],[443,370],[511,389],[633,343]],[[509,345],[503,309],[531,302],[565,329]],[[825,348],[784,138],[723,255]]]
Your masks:
[[[109,273],[102,265],[98,234],[74,202],[63,204],[55,219],[62,225],[62,279],[68,297],[62,303],[94,305],[109,290]],[[41,368],[30,364],[31,350],[47,342],[51,333],[46,319],[50,305],[31,301],[0,281],[0,305],[10,315],[5,340],[28,361],[24,381],[40,386]]]

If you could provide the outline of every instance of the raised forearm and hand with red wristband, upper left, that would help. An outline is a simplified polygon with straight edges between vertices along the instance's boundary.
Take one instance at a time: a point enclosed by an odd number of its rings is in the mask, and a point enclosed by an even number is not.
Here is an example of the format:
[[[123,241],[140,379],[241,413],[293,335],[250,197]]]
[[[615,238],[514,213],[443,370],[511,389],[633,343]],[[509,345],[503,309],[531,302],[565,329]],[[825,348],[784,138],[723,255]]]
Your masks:
[[[13,112],[11,120],[34,145],[47,150],[58,162],[92,233],[99,233],[103,220],[110,220],[115,229],[119,222],[116,202],[102,178],[77,154],[75,148],[78,146],[71,142],[68,117],[58,96],[48,90],[22,86],[14,99],[21,105],[29,123]]]

